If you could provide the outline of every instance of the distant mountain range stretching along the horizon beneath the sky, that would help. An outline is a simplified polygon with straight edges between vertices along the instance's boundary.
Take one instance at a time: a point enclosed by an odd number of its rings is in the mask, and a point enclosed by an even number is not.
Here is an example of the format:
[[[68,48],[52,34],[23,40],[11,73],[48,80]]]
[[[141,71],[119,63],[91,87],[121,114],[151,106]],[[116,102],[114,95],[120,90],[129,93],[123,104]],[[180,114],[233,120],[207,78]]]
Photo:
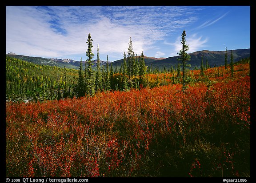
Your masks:
[[[228,50],[228,63],[230,62],[230,56],[231,56],[231,50]],[[250,57],[251,49],[236,49],[233,50],[233,59],[234,62],[237,62],[243,58]],[[188,64],[191,64],[190,68],[194,68],[195,66],[200,67],[201,65],[201,56],[203,55],[203,61],[204,64],[206,62],[206,59],[208,60],[208,64],[211,67],[224,65],[225,60],[225,51],[209,51],[209,50],[202,50],[197,51],[193,53],[189,53],[191,56],[190,61]],[[43,64],[43,65],[51,65],[51,66],[58,66],[61,68],[74,68],[78,69],[80,66],[80,61],[75,61],[72,59],[47,59],[42,57],[32,57],[32,56],[22,56],[22,55],[16,55],[15,53],[8,53],[6,56],[11,56],[20,60],[25,60],[28,62],[32,62],[34,64]],[[171,66],[175,67],[178,64],[178,58],[179,56],[172,56],[168,58],[155,58],[155,57],[147,57],[144,56],[145,64],[147,66],[150,66],[152,64],[153,68],[170,68]],[[137,57],[139,59],[139,56]],[[127,58],[126,58],[127,59]],[[115,67],[116,65],[120,67],[121,63],[123,63],[124,59],[113,61],[112,64]],[[85,61],[82,61],[83,65]],[[93,60],[92,64],[93,67],[96,68],[97,60]],[[106,64],[106,61],[100,60],[100,65]]]

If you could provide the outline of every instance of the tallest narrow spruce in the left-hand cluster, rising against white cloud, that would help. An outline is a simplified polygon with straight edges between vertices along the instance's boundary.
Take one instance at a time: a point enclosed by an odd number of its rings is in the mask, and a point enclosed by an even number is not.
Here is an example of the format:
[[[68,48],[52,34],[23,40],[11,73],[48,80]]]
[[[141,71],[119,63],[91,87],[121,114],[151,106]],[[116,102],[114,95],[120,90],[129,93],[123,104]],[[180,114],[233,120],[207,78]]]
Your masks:
[[[86,72],[86,94],[93,96],[95,94],[95,81],[94,81],[94,72],[92,70],[92,58],[94,56],[94,54],[92,53],[92,38],[91,38],[91,34],[88,34],[88,40],[87,40],[87,44],[88,44],[88,49],[86,52],[86,56],[88,57],[87,59],[87,72]]]

